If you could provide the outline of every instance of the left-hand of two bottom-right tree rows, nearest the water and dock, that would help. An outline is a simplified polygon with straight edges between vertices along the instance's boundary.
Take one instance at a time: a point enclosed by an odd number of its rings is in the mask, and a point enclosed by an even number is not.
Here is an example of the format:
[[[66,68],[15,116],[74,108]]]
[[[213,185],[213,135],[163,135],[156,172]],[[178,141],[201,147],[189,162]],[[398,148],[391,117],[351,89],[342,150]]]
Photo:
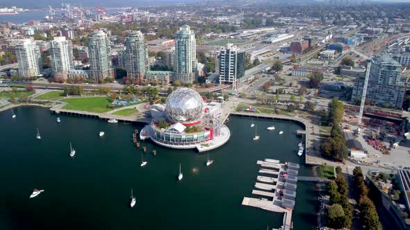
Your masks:
[[[336,179],[327,185],[331,206],[327,210],[327,226],[334,229],[350,229],[353,219],[353,206],[347,196],[349,186],[343,177],[341,167],[336,167]]]

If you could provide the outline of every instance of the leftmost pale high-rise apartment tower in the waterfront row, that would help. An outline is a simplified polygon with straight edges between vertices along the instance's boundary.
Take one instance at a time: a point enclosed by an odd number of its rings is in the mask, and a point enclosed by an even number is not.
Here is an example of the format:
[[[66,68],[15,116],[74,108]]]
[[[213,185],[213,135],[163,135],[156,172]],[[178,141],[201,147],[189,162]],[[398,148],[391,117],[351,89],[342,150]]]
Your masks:
[[[19,76],[31,78],[40,76],[42,69],[40,48],[31,39],[19,39],[15,44],[15,55]]]

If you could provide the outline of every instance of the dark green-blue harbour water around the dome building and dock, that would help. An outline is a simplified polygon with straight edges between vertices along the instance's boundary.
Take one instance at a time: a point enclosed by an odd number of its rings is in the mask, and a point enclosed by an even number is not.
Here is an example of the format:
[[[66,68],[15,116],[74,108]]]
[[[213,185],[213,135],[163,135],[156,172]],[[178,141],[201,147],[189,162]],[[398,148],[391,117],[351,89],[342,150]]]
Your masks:
[[[131,133],[142,125],[122,125],[97,119],[62,116],[49,109],[18,107],[0,113],[0,229],[266,229],[279,227],[283,215],[242,206],[259,166],[256,160],[280,159],[302,163],[295,123],[254,121],[261,139],[252,141],[251,121],[231,117],[229,142],[206,154],[168,150],[149,142],[148,161],[140,167],[141,152]],[[277,127],[268,133],[265,127]],[[39,127],[42,139],[35,139]],[[102,138],[98,133],[103,130]],[[279,135],[279,130],[284,134]],[[76,156],[69,157],[69,141]],[[177,181],[179,162],[183,179]],[[194,172],[194,168],[197,172]],[[310,175],[304,168],[302,175]],[[313,184],[297,184],[295,229],[315,229]],[[33,188],[44,193],[28,199]],[[133,188],[136,206],[129,209]]]

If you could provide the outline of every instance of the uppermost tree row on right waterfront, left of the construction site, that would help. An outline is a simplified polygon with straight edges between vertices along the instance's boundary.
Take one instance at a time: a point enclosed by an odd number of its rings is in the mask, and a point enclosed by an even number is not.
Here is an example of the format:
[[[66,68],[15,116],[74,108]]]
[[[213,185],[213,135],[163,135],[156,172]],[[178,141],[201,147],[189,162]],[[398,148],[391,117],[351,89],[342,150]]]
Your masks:
[[[341,131],[340,123],[343,118],[345,109],[343,102],[337,98],[333,98],[329,103],[328,123],[333,125],[331,135],[320,145],[322,155],[336,161],[344,161],[347,159],[348,149],[345,142],[345,137]]]

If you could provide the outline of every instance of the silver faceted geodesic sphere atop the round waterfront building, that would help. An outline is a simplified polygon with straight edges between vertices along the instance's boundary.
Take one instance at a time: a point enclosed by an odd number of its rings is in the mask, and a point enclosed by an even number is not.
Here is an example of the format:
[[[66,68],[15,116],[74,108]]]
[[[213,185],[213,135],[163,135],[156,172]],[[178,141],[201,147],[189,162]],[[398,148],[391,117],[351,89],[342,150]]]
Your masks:
[[[168,96],[165,111],[173,121],[181,123],[198,121],[204,111],[204,100],[197,91],[180,88]]]

